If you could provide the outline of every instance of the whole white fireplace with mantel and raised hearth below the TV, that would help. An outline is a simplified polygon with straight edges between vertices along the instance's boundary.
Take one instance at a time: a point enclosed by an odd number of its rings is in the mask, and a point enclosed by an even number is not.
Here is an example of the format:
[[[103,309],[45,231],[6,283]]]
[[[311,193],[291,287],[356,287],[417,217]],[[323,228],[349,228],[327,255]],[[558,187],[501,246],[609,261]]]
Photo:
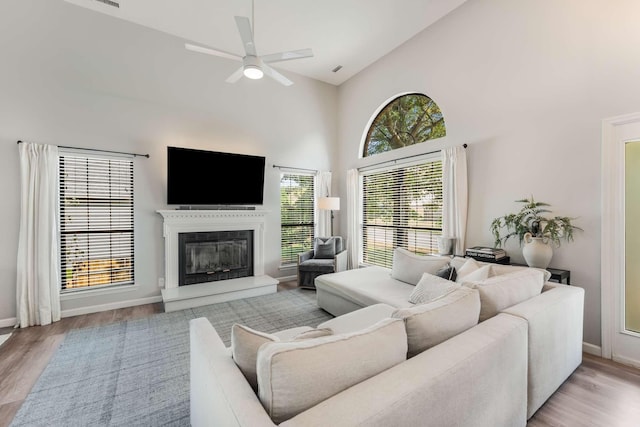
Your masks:
[[[165,311],[277,291],[278,280],[264,274],[267,211],[161,210],[158,213],[164,220],[165,286],[161,293]],[[190,284],[184,286],[186,283]]]

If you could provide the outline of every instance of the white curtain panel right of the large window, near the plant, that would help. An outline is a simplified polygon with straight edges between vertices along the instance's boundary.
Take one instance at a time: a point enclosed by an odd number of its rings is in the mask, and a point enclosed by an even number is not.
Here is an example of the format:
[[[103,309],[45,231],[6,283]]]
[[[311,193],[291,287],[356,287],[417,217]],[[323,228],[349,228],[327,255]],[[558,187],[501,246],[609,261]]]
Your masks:
[[[453,253],[464,255],[467,233],[467,152],[463,146],[442,150],[442,236],[455,238]]]

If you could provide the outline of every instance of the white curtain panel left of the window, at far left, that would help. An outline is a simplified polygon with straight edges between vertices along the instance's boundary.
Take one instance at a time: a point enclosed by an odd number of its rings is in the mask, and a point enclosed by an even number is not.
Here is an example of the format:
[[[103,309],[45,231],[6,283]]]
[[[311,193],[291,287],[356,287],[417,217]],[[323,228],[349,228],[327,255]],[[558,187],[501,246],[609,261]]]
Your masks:
[[[60,320],[58,147],[23,142],[16,326]]]

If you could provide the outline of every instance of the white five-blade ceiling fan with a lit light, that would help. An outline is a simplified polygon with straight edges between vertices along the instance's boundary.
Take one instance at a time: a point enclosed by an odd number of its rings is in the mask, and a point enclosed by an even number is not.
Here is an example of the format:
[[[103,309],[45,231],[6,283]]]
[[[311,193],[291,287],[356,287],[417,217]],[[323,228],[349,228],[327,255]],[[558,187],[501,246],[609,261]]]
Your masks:
[[[253,40],[253,28],[251,25],[252,22],[255,23],[255,20],[253,19],[253,13],[253,2],[251,2],[251,21],[249,21],[249,18],[247,18],[246,16],[235,17],[238,32],[240,33],[240,38],[242,39],[242,44],[244,45],[244,56],[236,55],[218,49],[211,49],[204,46],[197,46],[190,43],[185,43],[184,46],[188,50],[194,52],[206,53],[208,55],[242,61],[242,66],[227,78],[227,83],[235,83],[240,80],[242,76],[254,80],[261,79],[266,74],[267,76],[285,86],[291,86],[293,82],[280,74],[278,71],[274,70],[269,64],[272,64],[274,62],[290,61],[292,59],[309,58],[313,56],[313,52],[311,51],[311,49],[300,49],[259,56],[256,51],[256,44]]]

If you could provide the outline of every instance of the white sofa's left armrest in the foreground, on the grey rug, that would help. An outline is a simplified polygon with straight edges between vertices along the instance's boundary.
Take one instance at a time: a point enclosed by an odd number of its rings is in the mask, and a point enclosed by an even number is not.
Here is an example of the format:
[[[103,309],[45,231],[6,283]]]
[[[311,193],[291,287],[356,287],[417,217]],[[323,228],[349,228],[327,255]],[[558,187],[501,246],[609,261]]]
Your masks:
[[[275,426],[211,323],[189,322],[191,425]]]

